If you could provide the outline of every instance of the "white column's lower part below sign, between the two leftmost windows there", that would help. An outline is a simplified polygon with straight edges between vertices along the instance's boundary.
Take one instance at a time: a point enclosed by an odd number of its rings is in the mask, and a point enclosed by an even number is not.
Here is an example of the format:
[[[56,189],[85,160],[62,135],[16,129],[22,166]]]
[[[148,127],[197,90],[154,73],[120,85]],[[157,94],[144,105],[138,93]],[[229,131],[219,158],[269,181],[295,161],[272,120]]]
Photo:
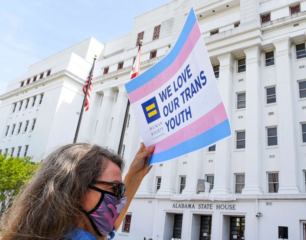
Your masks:
[[[176,193],[177,159],[163,163],[162,181],[157,194],[170,195]]]

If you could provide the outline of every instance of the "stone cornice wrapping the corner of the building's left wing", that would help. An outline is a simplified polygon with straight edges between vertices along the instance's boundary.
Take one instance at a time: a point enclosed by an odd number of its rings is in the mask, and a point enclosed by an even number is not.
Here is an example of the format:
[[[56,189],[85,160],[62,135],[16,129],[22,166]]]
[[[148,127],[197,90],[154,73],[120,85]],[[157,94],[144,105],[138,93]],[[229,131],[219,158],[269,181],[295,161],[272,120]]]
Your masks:
[[[24,91],[28,91],[28,90],[30,90],[32,88],[36,88],[36,87],[38,87],[40,85],[46,84],[46,83],[48,83],[50,81],[54,81],[54,80],[59,79],[61,77],[68,77],[71,80],[73,80],[73,81],[75,81],[75,82],[77,82],[77,83],[79,83],[81,85],[83,85],[84,82],[85,82],[84,79],[78,77],[77,75],[75,75],[72,72],[69,72],[68,70],[65,69],[65,70],[62,70],[60,72],[53,73],[53,74],[51,74],[48,77],[44,77],[44,78],[39,79],[39,80],[37,80],[35,82],[31,82],[31,83],[29,83],[27,85],[24,85],[22,87],[14,89],[14,90],[12,90],[10,92],[4,93],[4,94],[0,95],[0,100],[4,100],[4,99],[6,99],[8,97],[12,97],[12,96],[14,96],[16,94],[22,93]]]

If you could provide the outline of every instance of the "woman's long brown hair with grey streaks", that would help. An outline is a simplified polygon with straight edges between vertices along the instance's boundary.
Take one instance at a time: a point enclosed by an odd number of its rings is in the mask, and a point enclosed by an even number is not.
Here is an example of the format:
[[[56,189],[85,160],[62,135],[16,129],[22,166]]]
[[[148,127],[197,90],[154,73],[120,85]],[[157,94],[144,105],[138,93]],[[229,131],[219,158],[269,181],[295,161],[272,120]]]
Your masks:
[[[101,176],[108,161],[122,171],[122,158],[95,144],[73,143],[53,151],[2,217],[0,239],[67,235],[76,219],[84,217],[80,201],[87,186]]]

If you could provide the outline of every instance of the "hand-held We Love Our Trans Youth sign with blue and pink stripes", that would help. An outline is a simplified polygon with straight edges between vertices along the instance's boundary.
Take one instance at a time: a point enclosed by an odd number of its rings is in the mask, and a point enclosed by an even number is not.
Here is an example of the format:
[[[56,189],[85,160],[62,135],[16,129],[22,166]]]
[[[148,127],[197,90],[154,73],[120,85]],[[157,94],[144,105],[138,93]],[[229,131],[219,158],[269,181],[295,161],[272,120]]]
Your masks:
[[[149,165],[231,136],[193,7],[172,50],[125,87],[143,143],[155,146]]]

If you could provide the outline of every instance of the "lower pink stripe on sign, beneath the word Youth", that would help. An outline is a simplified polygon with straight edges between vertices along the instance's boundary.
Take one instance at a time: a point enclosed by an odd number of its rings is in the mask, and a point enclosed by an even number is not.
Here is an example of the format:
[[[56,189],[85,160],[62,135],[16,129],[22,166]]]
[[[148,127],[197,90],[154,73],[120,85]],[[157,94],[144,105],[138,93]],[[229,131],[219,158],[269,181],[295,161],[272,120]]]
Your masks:
[[[165,151],[171,147],[174,147],[188,139],[192,139],[197,135],[209,130],[210,128],[218,125],[219,123],[227,119],[227,114],[223,102],[217,105],[213,110],[207,114],[192,122],[188,126],[185,126],[176,133],[168,136],[167,138],[156,143],[154,153]],[[150,149],[151,146],[147,147]],[[153,153],[153,154],[154,154]]]

